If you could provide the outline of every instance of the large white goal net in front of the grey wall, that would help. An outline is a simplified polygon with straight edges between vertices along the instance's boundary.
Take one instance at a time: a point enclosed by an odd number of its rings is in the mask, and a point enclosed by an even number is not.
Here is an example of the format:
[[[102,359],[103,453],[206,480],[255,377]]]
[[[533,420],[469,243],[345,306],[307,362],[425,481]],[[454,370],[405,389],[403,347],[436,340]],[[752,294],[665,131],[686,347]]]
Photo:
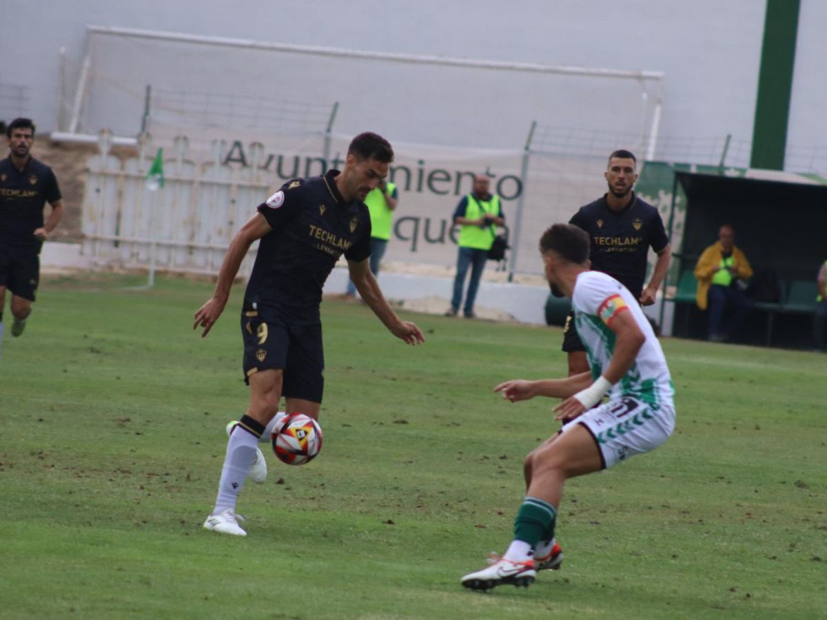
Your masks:
[[[101,26],[88,27],[84,67],[74,131],[136,135],[146,126],[158,145],[185,135],[196,163],[214,160],[214,142],[224,141],[224,163],[238,166],[260,142],[256,165],[270,188],[294,169],[341,165],[360,131],[387,137],[400,191],[389,260],[452,264],[453,209],[473,174],[489,174],[504,199],[511,268],[532,273],[541,270],[539,233],[605,191],[611,150],[651,155],[662,105],[662,75],[650,71]]]

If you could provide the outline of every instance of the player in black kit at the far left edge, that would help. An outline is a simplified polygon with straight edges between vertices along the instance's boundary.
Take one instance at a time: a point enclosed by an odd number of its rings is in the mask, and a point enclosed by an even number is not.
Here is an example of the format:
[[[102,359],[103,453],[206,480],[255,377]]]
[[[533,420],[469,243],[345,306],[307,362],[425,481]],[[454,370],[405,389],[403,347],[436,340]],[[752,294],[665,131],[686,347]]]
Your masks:
[[[9,154],[0,160],[0,342],[6,289],[12,291],[12,336],[20,336],[35,301],[40,253],[63,217],[63,200],[52,169],[31,156],[35,124],[16,118],[6,128]],[[43,221],[45,203],[51,206]]]

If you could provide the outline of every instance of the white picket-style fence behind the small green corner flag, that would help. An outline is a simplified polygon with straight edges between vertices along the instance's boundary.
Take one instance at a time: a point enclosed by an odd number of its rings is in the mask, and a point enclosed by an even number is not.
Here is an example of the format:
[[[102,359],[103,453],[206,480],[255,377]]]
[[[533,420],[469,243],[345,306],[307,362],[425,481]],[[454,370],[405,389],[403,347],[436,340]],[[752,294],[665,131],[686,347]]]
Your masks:
[[[120,160],[110,155],[112,135],[99,136],[100,155],[87,161],[81,229],[84,254],[94,265],[122,269],[154,268],[187,273],[218,272],[232,236],[261,203],[269,188],[265,171],[256,165],[261,145],[251,146],[253,165],[222,165],[223,146],[213,145],[213,161],[196,165],[187,159],[189,141],[174,140],[164,160],[164,187],[146,185],[154,150],[148,135],[138,140],[138,156]],[[250,273],[257,244],[241,265]]]

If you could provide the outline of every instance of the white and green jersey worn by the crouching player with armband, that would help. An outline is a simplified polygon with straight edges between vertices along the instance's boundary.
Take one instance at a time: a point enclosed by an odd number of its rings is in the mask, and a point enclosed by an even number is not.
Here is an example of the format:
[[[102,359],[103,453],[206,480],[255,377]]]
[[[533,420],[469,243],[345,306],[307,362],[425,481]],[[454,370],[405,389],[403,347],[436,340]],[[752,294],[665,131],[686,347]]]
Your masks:
[[[646,341],[629,372],[609,390],[609,398],[631,396],[650,405],[674,407],[675,386],[667,360],[638,300],[616,279],[599,271],[577,276],[571,296],[577,334],[586,346],[591,375],[597,379],[609,367],[617,336],[609,329],[619,312],[631,312]]]

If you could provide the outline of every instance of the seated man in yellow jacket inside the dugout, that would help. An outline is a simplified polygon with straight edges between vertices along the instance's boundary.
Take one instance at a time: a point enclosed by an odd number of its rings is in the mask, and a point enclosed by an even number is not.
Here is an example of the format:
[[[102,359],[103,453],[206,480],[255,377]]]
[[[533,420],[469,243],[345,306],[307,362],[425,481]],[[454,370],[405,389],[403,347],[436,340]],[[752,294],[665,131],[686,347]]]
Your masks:
[[[695,266],[698,279],[698,308],[710,310],[710,340],[729,340],[738,330],[753,303],[743,293],[745,281],[753,277],[747,257],[735,246],[735,231],[724,224],[718,242],[700,255]],[[724,310],[729,320],[724,324]]]

